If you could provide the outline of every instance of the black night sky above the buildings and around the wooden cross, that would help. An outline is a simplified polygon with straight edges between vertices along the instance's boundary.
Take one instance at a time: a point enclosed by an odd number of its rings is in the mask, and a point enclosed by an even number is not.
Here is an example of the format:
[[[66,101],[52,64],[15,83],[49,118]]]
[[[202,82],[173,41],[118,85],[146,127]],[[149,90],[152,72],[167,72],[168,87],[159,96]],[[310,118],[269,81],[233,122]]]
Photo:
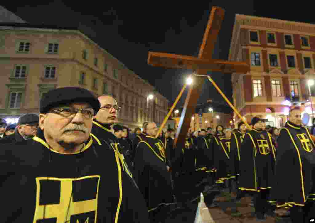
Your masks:
[[[148,51],[198,56],[212,6],[226,10],[214,59],[228,59],[235,14],[315,24],[312,7],[275,4],[276,1],[30,1],[28,5],[11,2],[1,5],[28,23],[78,27],[130,70],[155,86],[170,103],[177,97],[191,71],[149,66]],[[231,99],[231,74],[212,73],[212,77]],[[184,103],[185,98],[186,94],[179,105]],[[207,99],[227,106],[208,80],[203,85],[198,103],[205,103]]]

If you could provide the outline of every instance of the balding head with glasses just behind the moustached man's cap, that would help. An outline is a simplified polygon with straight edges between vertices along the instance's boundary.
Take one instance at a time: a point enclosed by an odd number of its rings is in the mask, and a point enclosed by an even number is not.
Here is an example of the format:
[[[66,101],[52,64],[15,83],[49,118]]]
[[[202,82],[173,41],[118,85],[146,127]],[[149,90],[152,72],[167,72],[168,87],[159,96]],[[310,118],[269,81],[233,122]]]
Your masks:
[[[111,96],[100,96],[100,110],[95,118],[100,123],[114,124],[118,114],[118,106],[116,100]]]

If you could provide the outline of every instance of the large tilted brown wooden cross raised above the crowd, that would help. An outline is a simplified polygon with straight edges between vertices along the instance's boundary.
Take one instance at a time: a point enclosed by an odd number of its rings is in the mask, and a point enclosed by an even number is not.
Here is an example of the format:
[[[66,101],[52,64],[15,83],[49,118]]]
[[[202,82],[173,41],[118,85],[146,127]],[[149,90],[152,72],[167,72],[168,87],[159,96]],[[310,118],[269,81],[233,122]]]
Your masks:
[[[248,72],[249,64],[245,62],[231,62],[212,59],[215,41],[221,27],[224,13],[225,11],[223,9],[212,7],[198,58],[193,56],[149,52],[148,64],[167,68],[193,69],[196,74],[199,75],[207,74],[209,71],[221,71],[223,73]],[[227,35],[230,35],[230,33],[227,33]],[[179,126],[174,140],[174,148],[175,146],[178,146],[178,148],[184,148],[185,146],[185,138],[187,136],[188,129],[190,128],[192,115],[195,113],[197,100],[199,98],[203,82],[204,77],[194,77],[194,83],[189,89],[184,108],[181,113]]]

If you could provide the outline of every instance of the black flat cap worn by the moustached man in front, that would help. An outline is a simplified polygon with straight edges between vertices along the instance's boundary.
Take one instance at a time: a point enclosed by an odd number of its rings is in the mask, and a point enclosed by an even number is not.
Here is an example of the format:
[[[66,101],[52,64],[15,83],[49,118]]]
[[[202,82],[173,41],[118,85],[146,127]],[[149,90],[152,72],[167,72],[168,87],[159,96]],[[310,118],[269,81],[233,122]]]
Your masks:
[[[100,110],[99,100],[89,90],[78,87],[65,87],[50,90],[40,100],[40,113],[71,103],[86,102],[94,109],[95,114]]]

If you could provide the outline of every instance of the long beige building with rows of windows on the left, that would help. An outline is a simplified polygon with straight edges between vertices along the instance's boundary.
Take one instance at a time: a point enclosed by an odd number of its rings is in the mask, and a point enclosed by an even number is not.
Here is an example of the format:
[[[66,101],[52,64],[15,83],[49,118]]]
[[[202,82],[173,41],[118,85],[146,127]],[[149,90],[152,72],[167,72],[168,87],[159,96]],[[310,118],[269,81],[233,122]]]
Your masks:
[[[167,114],[163,95],[76,29],[1,24],[0,73],[0,117],[6,119],[38,114],[42,95],[66,86],[112,94],[121,106],[117,123],[129,128],[161,124]]]

